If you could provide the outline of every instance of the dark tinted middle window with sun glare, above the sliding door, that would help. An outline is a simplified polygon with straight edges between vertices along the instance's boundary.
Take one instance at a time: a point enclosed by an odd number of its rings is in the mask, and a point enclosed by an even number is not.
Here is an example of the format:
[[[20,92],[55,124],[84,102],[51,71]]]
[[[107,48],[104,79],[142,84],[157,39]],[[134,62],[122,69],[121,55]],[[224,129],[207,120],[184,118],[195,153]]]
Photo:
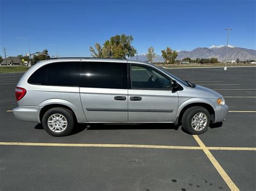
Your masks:
[[[127,63],[82,62],[80,86],[127,89]]]

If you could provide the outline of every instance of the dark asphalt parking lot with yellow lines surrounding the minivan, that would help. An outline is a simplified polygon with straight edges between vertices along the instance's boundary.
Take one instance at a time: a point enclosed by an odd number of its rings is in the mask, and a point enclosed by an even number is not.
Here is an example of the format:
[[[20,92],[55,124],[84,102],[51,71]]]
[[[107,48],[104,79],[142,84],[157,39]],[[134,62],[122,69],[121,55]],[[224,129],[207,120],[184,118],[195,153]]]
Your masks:
[[[200,136],[170,124],[82,124],[51,137],[11,112],[23,73],[0,74],[0,190],[255,190],[256,67],[166,70],[224,95],[226,121]]]

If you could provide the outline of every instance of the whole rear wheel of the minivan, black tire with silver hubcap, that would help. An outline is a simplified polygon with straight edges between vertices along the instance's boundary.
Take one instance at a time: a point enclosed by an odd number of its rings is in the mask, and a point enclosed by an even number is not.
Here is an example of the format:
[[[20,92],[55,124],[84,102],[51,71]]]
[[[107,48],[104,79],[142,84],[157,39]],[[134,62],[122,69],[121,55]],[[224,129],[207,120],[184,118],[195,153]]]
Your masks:
[[[42,125],[44,130],[53,137],[68,136],[74,126],[75,116],[65,108],[51,108],[45,112]],[[49,123],[48,123],[49,122]]]

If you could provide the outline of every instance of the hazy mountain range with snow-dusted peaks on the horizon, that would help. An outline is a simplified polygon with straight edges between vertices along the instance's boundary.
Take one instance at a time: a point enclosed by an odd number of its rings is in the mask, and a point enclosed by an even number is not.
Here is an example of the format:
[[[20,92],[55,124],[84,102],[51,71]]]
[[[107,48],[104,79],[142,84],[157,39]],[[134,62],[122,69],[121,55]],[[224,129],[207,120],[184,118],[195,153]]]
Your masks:
[[[193,60],[197,58],[218,58],[219,61],[225,61],[226,56],[226,46],[210,46],[210,47],[199,47],[195,48],[192,51],[178,51],[178,60],[182,60],[184,58],[191,58]],[[256,50],[254,49],[247,49],[241,47],[235,47],[228,45],[228,52],[227,52],[227,60],[237,60],[240,61],[244,60],[256,60]],[[129,58],[129,60],[136,60],[137,57],[133,56]],[[138,54],[139,61],[146,61],[146,53]],[[156,58],[154,58],[153,62],[164,62],[164,59],[156,54]]]

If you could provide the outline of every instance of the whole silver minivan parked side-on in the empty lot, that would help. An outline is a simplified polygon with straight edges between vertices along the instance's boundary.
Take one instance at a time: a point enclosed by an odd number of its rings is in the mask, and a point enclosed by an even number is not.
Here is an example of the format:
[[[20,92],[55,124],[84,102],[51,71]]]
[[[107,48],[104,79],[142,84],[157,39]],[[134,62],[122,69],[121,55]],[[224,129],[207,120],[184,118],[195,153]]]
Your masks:
[[[193,135],[222,122],[222,95],[151,63],[97,58],[37,62],[16,87],[14,115],[66,136],[76,123],[174,123]]]

